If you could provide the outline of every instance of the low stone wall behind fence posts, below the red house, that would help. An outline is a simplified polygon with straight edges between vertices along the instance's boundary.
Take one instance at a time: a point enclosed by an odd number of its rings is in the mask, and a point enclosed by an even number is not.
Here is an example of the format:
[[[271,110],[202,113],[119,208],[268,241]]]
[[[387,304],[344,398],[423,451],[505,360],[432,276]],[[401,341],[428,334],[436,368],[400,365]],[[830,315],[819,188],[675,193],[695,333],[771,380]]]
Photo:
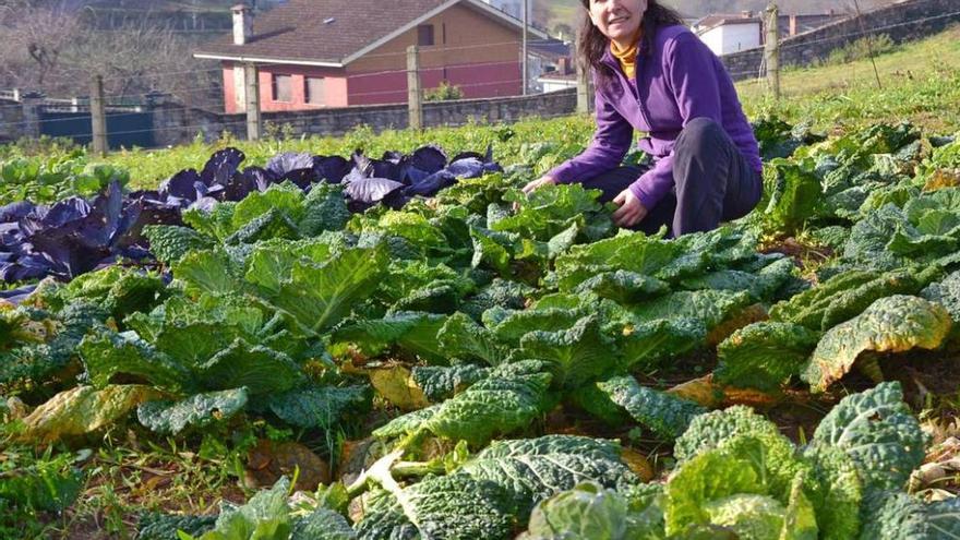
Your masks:
[[[461,99],[456,101],[424,103],[425,127],[515,122],[527,117],[571,115],[576,110],[575,88],[531,96],[494,99]],[[295,135],[343,135],[367,124],[375,132],[405,129],[408,124],[407,105],[369,105],[310,111],[264,112],[264,123],[289,124]],[[201,109],[189,109],[177,104],[159,104],[154,111],[155,140],[159,146],[188,143],[202,133],[214,140],[224,131],[247,136],[245,115],[221,115]]]

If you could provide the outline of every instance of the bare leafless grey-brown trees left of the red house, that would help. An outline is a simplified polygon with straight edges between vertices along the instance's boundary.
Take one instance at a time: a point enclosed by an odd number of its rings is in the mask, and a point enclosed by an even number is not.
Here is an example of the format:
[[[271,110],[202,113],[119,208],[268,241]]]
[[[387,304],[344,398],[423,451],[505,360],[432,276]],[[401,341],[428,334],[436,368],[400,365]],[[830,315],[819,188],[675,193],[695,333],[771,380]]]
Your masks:
[[[77,0],[10,0],[0,7],[0,87],[47,95],[85,95],[89,77],[104,76],[109,97],[143,100],[152,92],[188,105],[221,103],[216,62],[192,59],[192,41],[147,17],[96,29]]]

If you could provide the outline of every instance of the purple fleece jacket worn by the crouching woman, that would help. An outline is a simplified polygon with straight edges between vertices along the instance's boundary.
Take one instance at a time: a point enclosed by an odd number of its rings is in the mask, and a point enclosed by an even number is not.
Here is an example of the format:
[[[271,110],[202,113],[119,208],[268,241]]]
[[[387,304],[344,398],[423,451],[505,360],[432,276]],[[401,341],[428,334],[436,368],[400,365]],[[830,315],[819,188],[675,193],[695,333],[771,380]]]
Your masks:
[[[588,180],[621,165],[634,130],[647,133],[639,148],[655,159],[629,190],[649,211],[673,188],[673,144],[695,118],[722,125],[754,170],[761,171],[759,146],[743,113],[733,81],[720,59],[686,26],[661,26],[652,50],[640,40],[636,80],[627,80],[608,49],[603,62],[616,73],[597,86],[597,131],[579,156],[549,172],[559,183]]]

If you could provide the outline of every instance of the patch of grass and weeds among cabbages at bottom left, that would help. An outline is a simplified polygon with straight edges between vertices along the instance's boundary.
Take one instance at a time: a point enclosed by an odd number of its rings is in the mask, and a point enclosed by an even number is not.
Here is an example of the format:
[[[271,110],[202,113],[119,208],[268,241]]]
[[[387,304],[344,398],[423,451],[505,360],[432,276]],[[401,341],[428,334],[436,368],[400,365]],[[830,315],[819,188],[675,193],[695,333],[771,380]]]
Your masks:
[[[72,453],[58,445],[57,455],[85,455],[74,461],[84,472],[83,491],[61,514],[0,513],[0,537],[17,530],[25,540],[131,539],[143,512],[215,515],[219,501],[243,503],[256,492],[242,481],[247,452],[256,441],[289,440],[264,422],[207,432],[202,441],[154,442],[144,435],[136,427],[116,427],[95,451]],[[0,461],[11,459],[27,466],[43,457],[32,446],[12,444],[0,451]]]

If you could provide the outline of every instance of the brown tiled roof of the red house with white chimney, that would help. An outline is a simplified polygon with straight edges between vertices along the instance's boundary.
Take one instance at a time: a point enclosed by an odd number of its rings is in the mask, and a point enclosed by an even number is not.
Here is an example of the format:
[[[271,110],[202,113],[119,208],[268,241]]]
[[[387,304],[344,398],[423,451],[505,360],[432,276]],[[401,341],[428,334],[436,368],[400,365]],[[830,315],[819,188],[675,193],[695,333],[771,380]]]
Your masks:
[[[254,17],[253,38],[245,45],[233,45],[232,34],[229,34],[200,47],[195,53],[339,64],[351,55],[451,3],[455,2],[290,0]]]

